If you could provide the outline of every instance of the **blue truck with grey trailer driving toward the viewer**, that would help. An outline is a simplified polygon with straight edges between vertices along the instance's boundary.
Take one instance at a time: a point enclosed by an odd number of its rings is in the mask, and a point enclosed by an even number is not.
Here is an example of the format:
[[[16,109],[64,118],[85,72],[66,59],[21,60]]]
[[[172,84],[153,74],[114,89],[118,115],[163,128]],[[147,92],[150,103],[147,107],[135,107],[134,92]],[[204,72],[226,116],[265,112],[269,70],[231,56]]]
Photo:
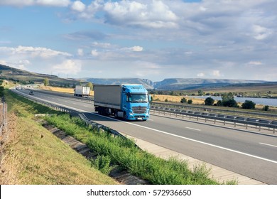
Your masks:
[[[150,99],[143,85],[94,85],[94,108],[102,115],[146,121]]]

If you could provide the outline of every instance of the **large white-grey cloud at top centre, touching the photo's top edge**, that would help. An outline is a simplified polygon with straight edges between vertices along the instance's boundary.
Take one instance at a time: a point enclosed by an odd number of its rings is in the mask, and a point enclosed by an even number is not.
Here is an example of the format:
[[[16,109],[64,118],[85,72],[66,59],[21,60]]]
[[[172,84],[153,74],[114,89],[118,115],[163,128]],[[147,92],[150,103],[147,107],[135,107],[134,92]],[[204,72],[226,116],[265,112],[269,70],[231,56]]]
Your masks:
[[[104,4],[107,23],[146,28],[177,28],[178,17],[163,1],[109,1]]]

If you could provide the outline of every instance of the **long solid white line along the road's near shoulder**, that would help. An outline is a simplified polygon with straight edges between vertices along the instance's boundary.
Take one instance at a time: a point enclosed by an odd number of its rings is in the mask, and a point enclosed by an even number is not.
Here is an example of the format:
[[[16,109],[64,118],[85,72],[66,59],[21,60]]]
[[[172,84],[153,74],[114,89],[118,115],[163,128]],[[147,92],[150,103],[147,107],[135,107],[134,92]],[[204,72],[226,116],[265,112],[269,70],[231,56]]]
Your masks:
[[[26,95],[26,94],[24,94],[24,95]],[[26,95],[26,96],[28,96],[28,95]],[[33,98],[38,98],[38,97],[33,97]],[[39,98],[38,98],[38,99],[39,99]],[[47,102],[47,100],[43,100],[43,101],[46,101],[46,102]],[[58,104],[58,103],[55,103],[55,102],[52,102],[52,103],[53,103],[53,104]],[[63,104],[59,104],[59,105],[60,105],[60,106],[63,106],[63,107],[67,107],[67,106],[65,106],[65,105],[63,105]],[[69,107],[69,108],[75,109],[75,108],[72,108],[72,107]],[[80,111],[80,112],[87,112],[87,111],[84,111],[84,110],[82,110],[82,109],[75,109],[75,110]],[[92,113],[92,112],[89,112],[89,113],[90,113],[90,114],[95,114],[95,113]],[[95,115],[98,115],[98,116],[101,116],[101,117],[106,117],[106,116],[102,116],[102,115],[99,115],[99,114],[95,114]],[[114,119],[114,118],[112,118],[112,117],[106,117],[106,118],[113,119],[113,120],[120,121],[120,122],[124,122],[124,121],[121,121],[121,120],[119,120],[119,119]],[[157,132],[160,132],[160,133],[162,133],[162,134],[168,134],[168,135],[170,135],[170,136],[175,136],[175,137],[178,137],[178,138],[181,138],[181,139],[186,139],[186,140],[189,140],[189,141],[195,141],[195,142],[197,142],[197,143],[205,144],[205,145],[207,145],[207,146],[214,146],[215,148],[218,148],[218,149],[224,149],[224,150],[226,150],[226,151],[232,151],[232,152],[234,152],[234,153],[241,154],[241,155],[245,155],[245,156],[249,156],[249,157],[252,157],[252,158],[258,158],[258,159],[261,159],[261,160],[263,160],[263,161],[268,161],[268,162],[271,162],[271,163],[277,163],[277,161],[273,161],[273,160],[270,160],[270,159],[267,159],[267,158],[262,158],[262,157],[259,157],[259,156],[254,156],[254,155],[251,155],[251,154],[246,154],[246,153],[241,152],[241,151],[237,151],[237,150],[233,150],[233,149],[228,149],[228,148],[225,148],[225,147],[222,147],[222,146],[217,146],[217,145],[214,145],[214,144],[209,144],[209,143],[204,142],[204,141],[198,141],[198,140],[196,140],[196,139],[190,139],[190,138],[187,138],[187,137],[184,137],[184,136],[178,136],[178,135],[175,135],[175,134],[170,134],[170,133],[168,133],[168,132],[160,131],[160,130],[157,130],[157,129],[152,129],[152,128],[150,128],[150,127],[143,127],[143,126],[141,126],[141,125],[139,125],[139,124],[134,124],[134,123],[130,123],[130,122],[124,122],[124,123],[130,124],[130,125],[134,125],[134,126],[136,126],[136,127],[141,127],[141,128],[144,128],[144,129],[149,129],[149,130],[152,130],[152,131],[157,131]]]

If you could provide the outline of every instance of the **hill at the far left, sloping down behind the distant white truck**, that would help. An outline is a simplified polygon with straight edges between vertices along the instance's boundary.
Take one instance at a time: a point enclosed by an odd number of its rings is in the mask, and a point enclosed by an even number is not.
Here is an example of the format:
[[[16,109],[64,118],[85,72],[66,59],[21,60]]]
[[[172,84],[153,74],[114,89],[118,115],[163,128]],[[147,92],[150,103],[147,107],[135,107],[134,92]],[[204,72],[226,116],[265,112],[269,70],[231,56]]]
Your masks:
[[[40,74],[36,72],[28,72],[26,70],[20,70],[11,68],[7,65],[0,64],[0,78],[6,80],[13,80],[21,83],[32,83],[32,82],[43,82],[45,78],[48,78],[50,85],[63,86],[67,85],[72,87],[73,85],[79,84],[77,80],[68,80],[60,78],[56,75]]]

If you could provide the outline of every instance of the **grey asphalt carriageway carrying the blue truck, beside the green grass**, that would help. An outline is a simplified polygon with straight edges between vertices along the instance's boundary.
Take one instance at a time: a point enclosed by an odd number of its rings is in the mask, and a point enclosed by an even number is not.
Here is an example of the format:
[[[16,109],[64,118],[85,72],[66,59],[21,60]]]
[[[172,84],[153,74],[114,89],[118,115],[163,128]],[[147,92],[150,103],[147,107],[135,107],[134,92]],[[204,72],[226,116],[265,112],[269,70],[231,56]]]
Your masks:
[[[158,144],[268,184],[277,184],[277,137],[215,127],[151,114],[147,122],[124,122],[94,112],[91,102],[34,91],[26,97],[44,99],[84,112],[88,119],[121,134]]]

